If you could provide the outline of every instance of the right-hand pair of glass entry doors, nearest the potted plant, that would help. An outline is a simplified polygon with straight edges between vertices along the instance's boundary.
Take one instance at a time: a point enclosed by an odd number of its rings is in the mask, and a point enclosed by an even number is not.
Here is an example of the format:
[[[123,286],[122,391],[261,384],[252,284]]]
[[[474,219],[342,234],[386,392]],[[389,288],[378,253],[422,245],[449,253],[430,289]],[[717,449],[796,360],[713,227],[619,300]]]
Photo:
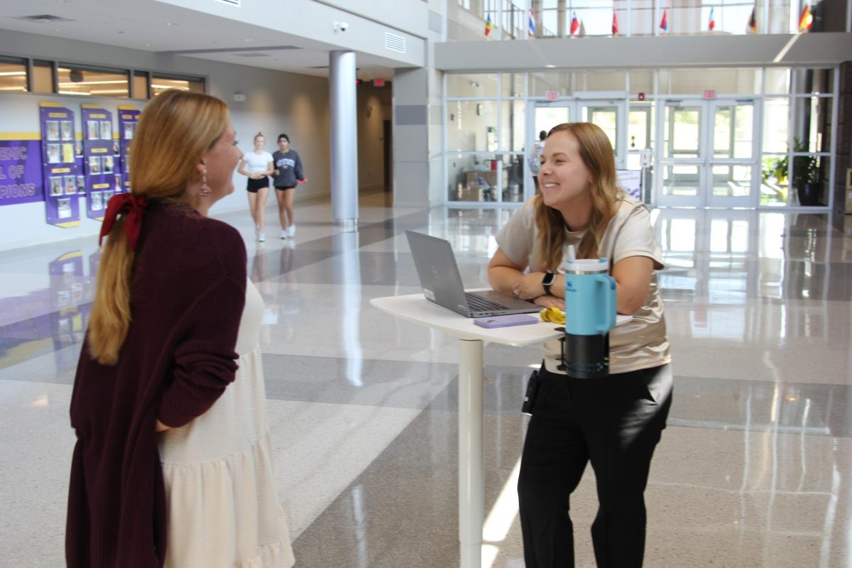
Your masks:
[[[662,106],[656,204],[756,207],[754,100],[665,100]]]

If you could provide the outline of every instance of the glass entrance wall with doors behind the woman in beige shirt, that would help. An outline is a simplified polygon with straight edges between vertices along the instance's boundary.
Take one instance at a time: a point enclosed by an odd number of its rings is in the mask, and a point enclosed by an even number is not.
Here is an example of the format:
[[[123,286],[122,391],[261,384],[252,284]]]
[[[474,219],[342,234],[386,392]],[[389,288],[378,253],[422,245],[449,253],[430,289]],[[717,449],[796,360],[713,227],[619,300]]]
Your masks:
[[[643,195],[654,204],[665,205],[661,195],[683,195],[741,198],[736,205],[709,205],[718,207],[831,205],[837,69],[553,69],[445,77],[450,202],[522,201],[538,131],[590,120],[625,148],[626,169],[642,171]],[[585,98],[589,93],[625,100],[624,123],[609,106]]]

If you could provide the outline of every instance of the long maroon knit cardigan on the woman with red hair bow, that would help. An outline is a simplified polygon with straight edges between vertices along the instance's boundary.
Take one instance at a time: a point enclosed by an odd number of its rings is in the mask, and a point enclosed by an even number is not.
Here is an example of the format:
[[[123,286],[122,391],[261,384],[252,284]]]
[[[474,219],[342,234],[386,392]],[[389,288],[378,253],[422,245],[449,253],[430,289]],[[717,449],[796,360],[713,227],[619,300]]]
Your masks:
[[[70,568],[163,565],[166,510],[155,421],[183,426],[233,382],[245,265],[233,227],[177,205],[149,204],[118,364],[99,364],[84,342],[74,379]]]

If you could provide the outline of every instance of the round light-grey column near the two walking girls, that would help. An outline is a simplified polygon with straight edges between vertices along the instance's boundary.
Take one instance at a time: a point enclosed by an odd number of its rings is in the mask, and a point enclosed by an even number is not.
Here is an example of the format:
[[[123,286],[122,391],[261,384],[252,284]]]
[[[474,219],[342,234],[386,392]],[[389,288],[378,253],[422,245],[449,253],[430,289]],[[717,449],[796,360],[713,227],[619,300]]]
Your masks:
[[[329,55],[331,105],[331,216],[344,231],[358,228],[358,118],[355,54]]]

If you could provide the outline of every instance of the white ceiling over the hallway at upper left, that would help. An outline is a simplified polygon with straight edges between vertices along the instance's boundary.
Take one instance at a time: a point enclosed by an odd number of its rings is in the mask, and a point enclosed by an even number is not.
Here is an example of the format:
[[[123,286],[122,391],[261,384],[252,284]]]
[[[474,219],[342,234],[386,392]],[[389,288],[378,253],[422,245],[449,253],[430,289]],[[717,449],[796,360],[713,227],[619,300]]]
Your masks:
[[[20,20],[43,14],[68,21]],[[328,76],[329,51],[339,49],[153,0],[0,0],[0,33],[2,30],[320,77]],[[359,78],[393,78],[386,60],[363,53],[356,57]]]

